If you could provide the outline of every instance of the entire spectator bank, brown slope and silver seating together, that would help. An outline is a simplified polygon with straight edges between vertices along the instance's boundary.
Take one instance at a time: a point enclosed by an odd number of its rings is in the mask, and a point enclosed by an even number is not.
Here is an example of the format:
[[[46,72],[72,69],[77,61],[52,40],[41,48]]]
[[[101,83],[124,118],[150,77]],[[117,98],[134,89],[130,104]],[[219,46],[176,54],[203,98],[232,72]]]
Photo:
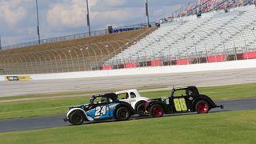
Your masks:
[[[256,58],[254,1],[192,3],[160,27],[0,51],[0,74],[46,74]],[[218,9],[216,9],[218,7]],[[198,15],[200,11],[200,15]]]

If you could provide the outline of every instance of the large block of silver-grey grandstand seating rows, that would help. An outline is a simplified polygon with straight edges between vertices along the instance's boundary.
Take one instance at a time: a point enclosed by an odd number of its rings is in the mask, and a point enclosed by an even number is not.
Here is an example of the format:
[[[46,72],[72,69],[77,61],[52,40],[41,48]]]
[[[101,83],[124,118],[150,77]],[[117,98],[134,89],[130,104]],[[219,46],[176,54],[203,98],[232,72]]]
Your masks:
[[[256,8],[240,6],[202,14],[174,18],[107,61],[106,65],[132,62],[163,62],[196,58],[206,61],[219,54],[256,51]],[[198,60],[198,58],[205,58]],[[248,58],[248,56],[247,56]],[[193,63],[193,62],[192,62]]]

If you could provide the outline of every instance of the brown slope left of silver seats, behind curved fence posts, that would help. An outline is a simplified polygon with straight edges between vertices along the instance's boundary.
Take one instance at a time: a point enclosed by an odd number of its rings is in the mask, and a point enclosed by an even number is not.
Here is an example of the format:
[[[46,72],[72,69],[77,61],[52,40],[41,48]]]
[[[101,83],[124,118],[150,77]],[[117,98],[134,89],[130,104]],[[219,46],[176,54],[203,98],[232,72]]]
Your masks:
[[[101,70],[102,63],[155,28],[0,51],[0,74]]]

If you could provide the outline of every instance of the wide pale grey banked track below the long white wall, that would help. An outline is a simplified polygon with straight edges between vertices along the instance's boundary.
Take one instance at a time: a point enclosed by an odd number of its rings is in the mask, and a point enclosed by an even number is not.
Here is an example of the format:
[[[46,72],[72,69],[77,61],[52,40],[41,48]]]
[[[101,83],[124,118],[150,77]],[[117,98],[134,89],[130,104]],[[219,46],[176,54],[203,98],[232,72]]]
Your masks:
[[[30,82],[0,82],[0,97],[91,90],[122,90],[149,86],[223,86],[256,82],[256,69],[217,70],[180,74],[149,74]]]

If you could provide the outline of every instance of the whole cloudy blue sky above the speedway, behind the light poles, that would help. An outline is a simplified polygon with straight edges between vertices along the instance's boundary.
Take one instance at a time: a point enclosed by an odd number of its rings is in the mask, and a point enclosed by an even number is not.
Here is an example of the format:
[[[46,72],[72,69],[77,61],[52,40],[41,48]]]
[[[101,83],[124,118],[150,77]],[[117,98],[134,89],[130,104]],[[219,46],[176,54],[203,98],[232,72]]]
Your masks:
[[[150,22],[170,16],[191,0],[148,0]],[[89,0],[91,31],[146,22],[146,0]],[[0,0],[2,46],[38,39],[35,0]],[[41,38],[88,32],[86,0],[38,0]]]

